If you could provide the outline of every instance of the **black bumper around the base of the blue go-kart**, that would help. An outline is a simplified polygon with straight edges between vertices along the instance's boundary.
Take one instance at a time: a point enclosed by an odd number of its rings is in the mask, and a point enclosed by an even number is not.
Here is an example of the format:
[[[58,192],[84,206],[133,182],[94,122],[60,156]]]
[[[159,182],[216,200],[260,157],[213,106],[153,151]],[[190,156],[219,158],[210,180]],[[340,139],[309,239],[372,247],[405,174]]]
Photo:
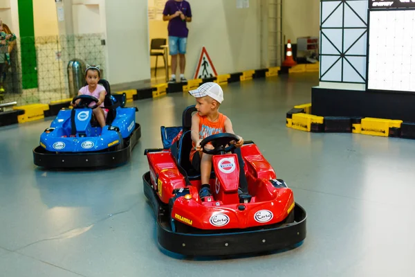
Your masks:
[[[33,162],[42,168],[109,168],[127,163],[131,152],[141,137],[141,126],[136,128],[128,139],[124,139],[124,148],[112,152],[53,153],[42,146],[33,149]]]

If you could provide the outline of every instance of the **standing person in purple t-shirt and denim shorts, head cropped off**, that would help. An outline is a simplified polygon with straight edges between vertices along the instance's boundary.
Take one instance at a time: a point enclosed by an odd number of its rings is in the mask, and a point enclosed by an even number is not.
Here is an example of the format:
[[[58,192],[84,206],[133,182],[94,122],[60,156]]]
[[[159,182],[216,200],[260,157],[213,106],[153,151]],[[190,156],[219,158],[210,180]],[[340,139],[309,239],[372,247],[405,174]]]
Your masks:
[[[176,82],[177,56],[180,57],[180,81],[186,82],[186,48],[187,22],[192,21],[192,10],[190,3],[186,0],[168,0],[163,11],[163,20],[169,21],[167,30],[169,31],[169,54],[172,56],[172,78],[169,82]]]

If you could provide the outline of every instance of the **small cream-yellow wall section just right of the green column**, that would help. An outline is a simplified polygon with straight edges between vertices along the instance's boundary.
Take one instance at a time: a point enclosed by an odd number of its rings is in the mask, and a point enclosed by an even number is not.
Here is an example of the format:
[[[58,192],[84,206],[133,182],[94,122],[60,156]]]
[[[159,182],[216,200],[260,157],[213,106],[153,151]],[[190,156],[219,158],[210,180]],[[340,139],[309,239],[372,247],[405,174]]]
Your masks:
[[[33,21],[35,25],[35,37],[59,35],[55,1],[33,1]]]

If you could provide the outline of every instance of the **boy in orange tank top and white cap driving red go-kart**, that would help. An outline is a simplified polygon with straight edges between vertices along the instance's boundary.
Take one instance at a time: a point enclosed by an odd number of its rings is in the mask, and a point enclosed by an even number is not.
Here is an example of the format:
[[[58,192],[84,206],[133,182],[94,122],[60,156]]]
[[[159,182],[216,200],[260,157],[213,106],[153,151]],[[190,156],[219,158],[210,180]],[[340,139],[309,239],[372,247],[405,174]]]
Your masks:
[[[219,112],[219,106],[223,101],[223,91],[219,84],[207,82],[199,88],[189,91],[196,98],[197,113],[192,116],[192,151],[190,162],[195,170],[201,172],[201,190],[199,197],[211,196],[210,172],[212,172],[212,155],[206,154],[201,148],[201,141],[208,136],[219,133],[234,134],[230,119]],[[241,136],[234,142],[240,148],[243,145]],[[205,149],[212,150],[211,144],[205,145]]]

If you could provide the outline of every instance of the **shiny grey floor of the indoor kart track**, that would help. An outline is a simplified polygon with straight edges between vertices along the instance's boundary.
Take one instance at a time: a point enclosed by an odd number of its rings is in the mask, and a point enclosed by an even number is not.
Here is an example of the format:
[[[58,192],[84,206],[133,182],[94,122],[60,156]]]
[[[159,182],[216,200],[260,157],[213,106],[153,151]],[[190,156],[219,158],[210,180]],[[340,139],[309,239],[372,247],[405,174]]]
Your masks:
[[[286,111],[317,83],[300,74],[228,84],[221,106],[306,208],[301,247],[228,260],[160,251],[143,151],[194,102],[175,93],[134,103],[142,139],[112,170],[36,168],[32,149],[52,118],[0,128],[0,276],[414,276],[415,141],[286,128]]]

